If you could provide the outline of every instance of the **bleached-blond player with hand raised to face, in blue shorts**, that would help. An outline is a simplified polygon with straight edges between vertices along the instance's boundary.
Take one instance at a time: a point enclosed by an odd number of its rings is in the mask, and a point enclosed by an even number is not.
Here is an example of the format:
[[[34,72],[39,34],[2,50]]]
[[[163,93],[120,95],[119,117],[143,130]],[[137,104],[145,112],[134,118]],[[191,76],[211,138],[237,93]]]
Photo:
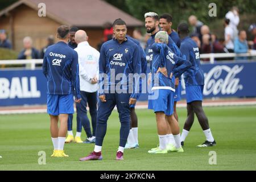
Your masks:
[[[152,61],[152,90],[154,92],[153,109],[156,114],[156,123],[159,135],[159,147],[148,151],[150,154],[167,154],[168,151],[183,152],[180,143],[179,123],[174,117],[174,77],[179,77],[186,69],[191,67],[189,61],[177,57],[167,46],[168,34],[166,31],[159,31],[155,35],[155,42],[152,45],[154,53]],[[178,65],[178,67],[175,67]],[[175,68],[175,69],[174,69]],[[167,122],[166,122],[167,118]],[[174,135],[175,146],[167,148],[168,134],[167,126],[171,126]]]

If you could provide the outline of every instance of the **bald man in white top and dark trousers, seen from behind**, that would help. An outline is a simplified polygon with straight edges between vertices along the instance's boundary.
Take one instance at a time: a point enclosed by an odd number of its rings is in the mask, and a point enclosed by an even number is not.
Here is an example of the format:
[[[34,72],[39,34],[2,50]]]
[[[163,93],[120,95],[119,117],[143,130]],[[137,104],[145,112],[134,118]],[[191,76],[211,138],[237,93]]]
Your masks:
[[[95,143],[97,122],[97,87],[98,87],[98,60],[100,52],[91,47],[87,42],[88,36],[83,30],[75,34],[79,56],[79,77],[82,101],[76,104],[77,123],[84,127],[87,139],[84,143]],[[87,117],[86,105],[88,103],[90,117],[92,118],[93,132],[90,130],[90,121]]]

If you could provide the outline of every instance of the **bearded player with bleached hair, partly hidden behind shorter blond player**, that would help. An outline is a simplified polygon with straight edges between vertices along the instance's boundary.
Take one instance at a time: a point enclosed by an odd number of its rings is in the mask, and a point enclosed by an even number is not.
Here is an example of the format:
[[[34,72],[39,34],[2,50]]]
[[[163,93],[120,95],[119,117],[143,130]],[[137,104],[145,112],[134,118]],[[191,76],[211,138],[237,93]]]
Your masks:
[[[153,51],[151,46],[152,44],[155,43],[155,35],[159,31],[159,16],[154,12],[148,12],[144,15],[144,17],[145,17],[145,27],[147,29],[147,33],[151,34],[151,37],[147,40],[147,49],[146,49],[146,55],[147,55],[148,61],[150,61],[150,70],[151,70],[151,65],[153,60]],[[171,48],[172,52],[174,52],[175,55],[182,57],[179,48],[176,46],[174,40],[172,40],[170,36],[168,38],[167,46]],[[151,85],[150,81],[151,80],[149,76],[148,85]],[[152,93],[149,92],[148,93],[148,109],[153,109],[151,97],[152,97]],[[168,134],[166,137],[168,138],[168,141],[169,141],[168,146],[175,145],[174,136],[172,135],[172,132],[170,129],[171,126],[168,125],[167,127],[168,127]]]

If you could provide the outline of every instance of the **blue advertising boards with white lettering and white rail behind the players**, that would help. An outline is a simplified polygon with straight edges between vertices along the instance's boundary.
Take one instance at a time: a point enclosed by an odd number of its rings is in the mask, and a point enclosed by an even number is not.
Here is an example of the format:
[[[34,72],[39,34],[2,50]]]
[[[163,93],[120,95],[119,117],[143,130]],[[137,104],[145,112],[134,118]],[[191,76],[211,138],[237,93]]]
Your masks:
[[[229,54],[201,55],[201,58],[237,56]],[[254,53],[239,56],[256,56]],[[24,68],[0,69],[0,106],[46,104],[46,78],[42,68],[43,60],[0,60],[1,65],[26,64]],[[256,61],[213,61],[201,65],[205,73],[204,97],[256,97]],[[148,68],[149,69],[149,68]],[[182,97],[185,96],[184,81]],[[147,100],[142,94],[139,100]]]

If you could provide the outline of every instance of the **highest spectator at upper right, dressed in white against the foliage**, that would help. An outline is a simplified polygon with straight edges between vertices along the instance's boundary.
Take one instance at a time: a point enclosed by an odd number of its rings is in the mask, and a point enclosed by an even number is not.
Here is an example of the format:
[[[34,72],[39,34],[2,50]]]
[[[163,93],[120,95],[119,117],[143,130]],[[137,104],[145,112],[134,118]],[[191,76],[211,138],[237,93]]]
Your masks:
[[[225,15],[225,18],[230,20],[229,26],[233,29],[234,38],[237,38],[237,26],[240,22],[238,8],[236,6],[233,6],[232,9]]]

